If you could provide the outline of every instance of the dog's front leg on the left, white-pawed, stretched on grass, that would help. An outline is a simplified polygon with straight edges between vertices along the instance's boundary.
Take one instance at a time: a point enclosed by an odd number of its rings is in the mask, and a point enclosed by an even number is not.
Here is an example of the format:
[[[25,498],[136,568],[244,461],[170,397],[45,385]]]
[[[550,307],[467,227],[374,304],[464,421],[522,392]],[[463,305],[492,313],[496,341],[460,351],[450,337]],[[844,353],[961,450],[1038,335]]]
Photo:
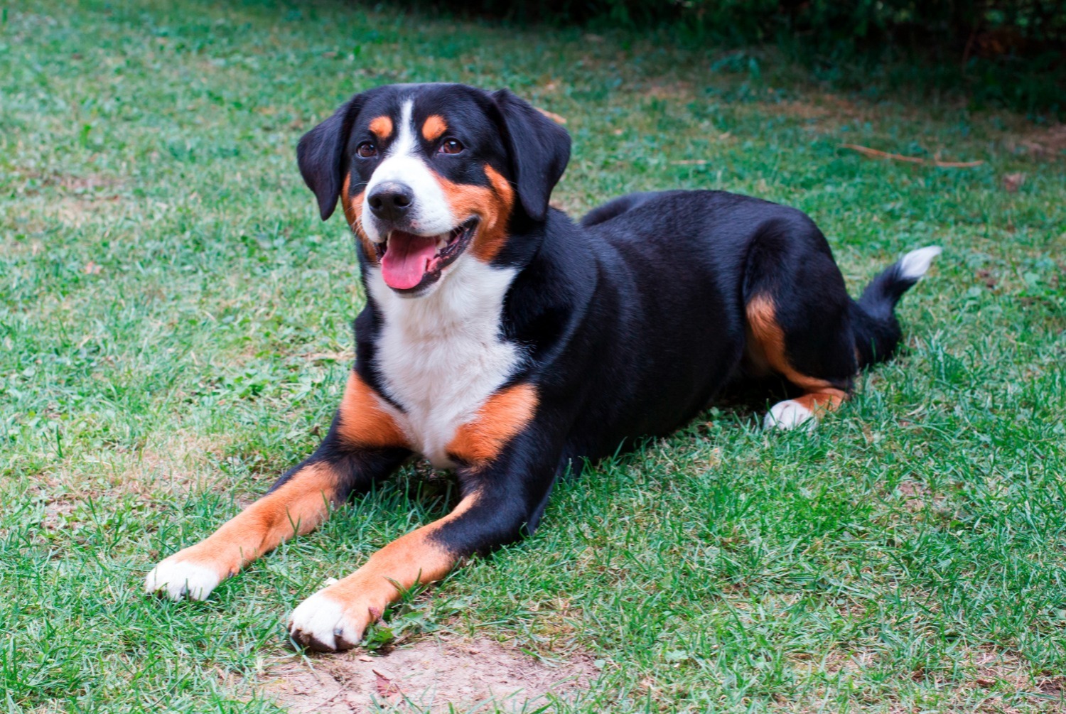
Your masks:
[[[409,453],[384,403],[353,372],[314,453],[211,536],[159,563],[145,589],[174,600],[203,600],[284,540],[312,531],[333,506],[388,476]]]

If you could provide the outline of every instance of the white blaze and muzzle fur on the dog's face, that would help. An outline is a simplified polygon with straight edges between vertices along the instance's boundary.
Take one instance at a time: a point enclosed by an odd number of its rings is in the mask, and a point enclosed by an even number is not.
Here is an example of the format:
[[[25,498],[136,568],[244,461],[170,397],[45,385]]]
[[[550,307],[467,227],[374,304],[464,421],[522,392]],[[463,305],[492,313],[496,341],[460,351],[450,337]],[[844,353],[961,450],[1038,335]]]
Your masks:
[[[418,128],[411,118],[415,101],[408,99],[400,110],[397,137],[389,146],[385,160],[374,169],[362,198],[362,230],[374,243],[386,239],[370,210],[369,197],[386,181],[397,181],[410,188],[415,199],[410,206],[409,230],[419,236],[447,233],[455,227],[455,217],[445,192],[421,156]]]

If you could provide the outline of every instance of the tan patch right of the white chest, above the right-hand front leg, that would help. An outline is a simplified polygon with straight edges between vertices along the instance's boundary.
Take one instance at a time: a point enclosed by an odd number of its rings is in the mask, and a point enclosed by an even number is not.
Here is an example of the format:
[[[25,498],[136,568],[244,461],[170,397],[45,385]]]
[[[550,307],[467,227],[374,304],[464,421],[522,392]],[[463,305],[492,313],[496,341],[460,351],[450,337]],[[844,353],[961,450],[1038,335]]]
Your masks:
[[[472,421],[456,429],[448,453],[474,468],[487,465],[530,423],[537,401],[533,385],[515,385],[492,394]]]

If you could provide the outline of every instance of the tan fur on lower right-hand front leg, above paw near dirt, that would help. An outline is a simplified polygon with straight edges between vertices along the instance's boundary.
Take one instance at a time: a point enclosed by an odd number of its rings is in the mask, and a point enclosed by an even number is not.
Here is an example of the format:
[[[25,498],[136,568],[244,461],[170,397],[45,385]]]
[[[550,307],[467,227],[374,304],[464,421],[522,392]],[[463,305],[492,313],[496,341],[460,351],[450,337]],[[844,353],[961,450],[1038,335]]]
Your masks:
[[[360,629],[382,613],[406,590],[419,583],[432,583],[451,571],[457,562],[454,554],[431,536],[449,521],[459,518],[477,503],[478,496],[463,499],[452,513],[429,525],[397,538],[370,556],[348,578],[326,588],[330,598],[343,602]]]

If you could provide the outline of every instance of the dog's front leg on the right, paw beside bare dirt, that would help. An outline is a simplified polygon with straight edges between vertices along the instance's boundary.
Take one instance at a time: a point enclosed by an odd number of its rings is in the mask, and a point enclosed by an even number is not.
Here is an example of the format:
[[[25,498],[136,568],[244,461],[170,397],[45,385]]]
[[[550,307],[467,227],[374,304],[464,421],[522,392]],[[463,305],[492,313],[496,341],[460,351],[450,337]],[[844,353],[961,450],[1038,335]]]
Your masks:
[[[304,600],[289,620],[293,640],[321,652],[350,649],[403,590],[440,580],[465,557],[532,532],[559,469],[561,447],[551,441],[528,432],[501,453],[482,442],[470,459],[457,459],[465,465],[457,470],[462,499],[455,508]]]

